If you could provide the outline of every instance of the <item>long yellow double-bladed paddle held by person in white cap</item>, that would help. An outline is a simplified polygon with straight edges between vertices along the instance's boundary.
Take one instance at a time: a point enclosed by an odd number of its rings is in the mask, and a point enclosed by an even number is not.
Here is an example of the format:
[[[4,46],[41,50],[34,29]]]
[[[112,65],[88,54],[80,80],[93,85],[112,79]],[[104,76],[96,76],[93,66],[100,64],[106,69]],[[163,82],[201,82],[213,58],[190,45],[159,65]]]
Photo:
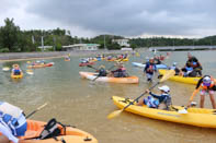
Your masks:
[[[154,86],[151,86],[151,87],[149,88],[149,91],[152,90],[154,87],[156,87],[156,86],[157,86],[158,84],[160,84],[161,82],[164,82],[166,80],[168,80],[168,79],[170,79],[171,76],[173,76],[174,73],[175,73],[174,70],[169,70],[169,71],[162,76],[162,79],[161,79],[158,83],[156,83]],[[123,109],[115,110],[115,111],[111,112],[111,114],[107,116],[107,118],[109,118],[109,119],[112,119],[112,118],[114,118],[114,117],[121,115],[127,107],[129,107],[130,105],[133,105],[136,100],[138,100],[138,99],[139,99],[141,96],[144,96],[145,94],[147,94],[147,92],[143,93],[139,97],[137,97],[136,99],[134,99],[132,103],[129,103],[129,104],[128,104],[127,106],[125,106]]]

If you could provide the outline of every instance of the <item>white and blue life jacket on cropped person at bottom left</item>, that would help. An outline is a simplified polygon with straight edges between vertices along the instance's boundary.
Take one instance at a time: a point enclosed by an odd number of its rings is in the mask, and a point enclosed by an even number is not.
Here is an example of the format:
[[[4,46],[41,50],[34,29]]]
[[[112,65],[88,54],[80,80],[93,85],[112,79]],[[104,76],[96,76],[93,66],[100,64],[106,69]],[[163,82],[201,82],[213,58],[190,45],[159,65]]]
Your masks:
[[[11,129],[13,135],[18,135],[19,118],[23,110],[8,103],[0,103],[0,122]]]

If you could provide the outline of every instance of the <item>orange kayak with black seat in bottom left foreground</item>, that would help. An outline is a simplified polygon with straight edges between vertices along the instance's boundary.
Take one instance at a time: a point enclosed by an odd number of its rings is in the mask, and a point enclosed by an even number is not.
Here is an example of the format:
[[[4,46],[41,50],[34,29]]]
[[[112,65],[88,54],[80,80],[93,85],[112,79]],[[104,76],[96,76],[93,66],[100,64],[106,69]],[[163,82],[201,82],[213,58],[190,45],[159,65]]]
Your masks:
[[[64,131],[61,126],[59,126],[61,134],[57,136],[57,140],[59,141],[56,141],[54,138],[45,140],[31,140],[41,134],[45,124],[46,122],[27,120],[27,131],[25,132],[25,136],[20,138],[23,140],[19,143],[98,143],[98,140],[94,136],[84,131],[72,127],[66,127],[66,130]],[[65,142],[62,142],[62,140]]]

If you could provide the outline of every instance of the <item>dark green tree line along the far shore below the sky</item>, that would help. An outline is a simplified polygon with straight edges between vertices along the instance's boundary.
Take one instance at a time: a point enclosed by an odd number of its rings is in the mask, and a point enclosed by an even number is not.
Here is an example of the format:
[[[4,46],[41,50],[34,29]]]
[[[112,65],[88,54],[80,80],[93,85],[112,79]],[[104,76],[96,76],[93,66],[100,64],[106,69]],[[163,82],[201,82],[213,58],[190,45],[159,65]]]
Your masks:
[[[41,51],[42,40],[45,46],[53,46],[49,50],[60,51],[62,46],[72,44],[99,44],[101,49],[121,49],[122,47],[113,43],[113,39],[124,38],[116,35],[99,35],[93,38],[83,38],[71,36],[70,31],[60,29],[31,29],[21,31],[14,24],[13,19],[7,17],[4,26],[0,27],[0,52],[23,52]],[[204,37],[200,39],[190,38],[132,38],[129,39],[132,48],[156,47],[156,46],[203,46],[216,45],[216,36]]]

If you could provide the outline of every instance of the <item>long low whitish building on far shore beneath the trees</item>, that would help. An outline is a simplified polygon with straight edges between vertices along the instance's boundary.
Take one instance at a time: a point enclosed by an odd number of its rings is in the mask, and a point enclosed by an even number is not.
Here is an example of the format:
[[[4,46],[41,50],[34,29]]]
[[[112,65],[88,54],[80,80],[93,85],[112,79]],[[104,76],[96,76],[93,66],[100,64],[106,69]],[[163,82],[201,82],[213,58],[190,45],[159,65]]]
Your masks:
[[[75,44],[75,45],[68,45],[62,46],[62,49],[65,50],[98,50],[99,44]]]

